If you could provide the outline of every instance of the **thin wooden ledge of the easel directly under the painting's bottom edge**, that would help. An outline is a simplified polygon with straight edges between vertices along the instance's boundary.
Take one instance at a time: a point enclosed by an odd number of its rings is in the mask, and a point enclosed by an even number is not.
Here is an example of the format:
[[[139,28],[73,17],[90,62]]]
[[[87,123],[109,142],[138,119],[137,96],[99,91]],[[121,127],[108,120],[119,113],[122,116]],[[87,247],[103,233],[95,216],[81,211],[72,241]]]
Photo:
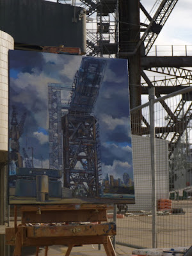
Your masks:
[[[113,209],[113,204],[56,204],[56,205],[22,205],[21,212],[42,211],[71,211],[71,210],[93,210]]]

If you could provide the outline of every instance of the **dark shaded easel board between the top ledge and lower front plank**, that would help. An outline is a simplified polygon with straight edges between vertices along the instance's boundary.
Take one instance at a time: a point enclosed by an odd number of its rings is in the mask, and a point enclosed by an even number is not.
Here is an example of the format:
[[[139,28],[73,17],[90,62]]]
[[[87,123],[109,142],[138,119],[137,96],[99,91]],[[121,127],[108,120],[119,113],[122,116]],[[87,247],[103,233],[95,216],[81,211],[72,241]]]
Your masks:
[[[79,221],[107,221],[106,209],[97,211],[79,210],[79,211],[36,211],[22,212],[22,224],[24,223],[52,223],[52,222],[79,222]]]

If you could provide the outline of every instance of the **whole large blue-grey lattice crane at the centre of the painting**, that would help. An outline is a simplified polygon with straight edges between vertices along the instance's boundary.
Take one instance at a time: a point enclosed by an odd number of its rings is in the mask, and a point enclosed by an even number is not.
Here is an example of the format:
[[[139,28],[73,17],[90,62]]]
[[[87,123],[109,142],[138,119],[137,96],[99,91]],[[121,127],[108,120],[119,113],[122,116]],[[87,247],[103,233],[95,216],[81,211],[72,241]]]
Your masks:
[[[100,84],[104,77],[106,61],[96,58],[83,58],[81,67],[76,72],[72,84],[72,95],[68,104],[60,104],[61,90],[67,86],[48,84],[49,88],[49,143],[50,163],[59,163],[55,159],[54,150],[60,152],[61,138],[55,139],[54,127],[60,126],[60,109],[65,110],[61,117],[63,130],[63,186],[72,191],[73,196],[94,198],[99,196],[100,181],[102,179],[101,161],[99,154],[99,122],[92,115],[97,100]],[[56,97],[56,94],[58,97]],[[67,112],[66,112],[67,111]],[[53,118],[53,115],[56,113]],[[58,121],[57,121],[58,120]],[[54,122],[54,125],[53,125]],[[56,125],[55,125],[56,124]],[[50,129],[51,127],[51,129]],[[59,132],[59,131],[58,131]],[[60,135],[60,134],[59,134]],[[54,166],[51,166],[54,168]]]

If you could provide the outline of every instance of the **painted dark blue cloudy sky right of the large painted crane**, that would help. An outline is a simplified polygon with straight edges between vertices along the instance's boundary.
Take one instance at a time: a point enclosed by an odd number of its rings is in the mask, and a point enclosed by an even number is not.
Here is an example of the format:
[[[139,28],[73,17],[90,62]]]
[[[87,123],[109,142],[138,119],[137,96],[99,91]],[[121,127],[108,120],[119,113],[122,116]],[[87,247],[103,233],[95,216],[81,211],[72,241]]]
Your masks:
[[[110,173],[122,179],[127,172],[133,179],[127,60],[108,59],[94,115],[100,125],[103,177]]]

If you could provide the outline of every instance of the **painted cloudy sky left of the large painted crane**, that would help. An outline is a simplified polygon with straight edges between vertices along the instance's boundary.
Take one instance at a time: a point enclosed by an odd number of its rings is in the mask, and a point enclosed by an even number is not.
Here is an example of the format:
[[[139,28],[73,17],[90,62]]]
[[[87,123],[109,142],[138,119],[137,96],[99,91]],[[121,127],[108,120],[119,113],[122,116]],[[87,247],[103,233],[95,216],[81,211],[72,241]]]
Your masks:
[[[18,116],[27,113],[20,150],[26,148],[36,168],[49,168],[48,83],[72,83],[81,56],[10,51],[10,115],[12,104]],[[67,92],[68,95],[70,92]],[[19,122],[18,118],[18,122]],[[22,151],[21,151],[22,153]]]

